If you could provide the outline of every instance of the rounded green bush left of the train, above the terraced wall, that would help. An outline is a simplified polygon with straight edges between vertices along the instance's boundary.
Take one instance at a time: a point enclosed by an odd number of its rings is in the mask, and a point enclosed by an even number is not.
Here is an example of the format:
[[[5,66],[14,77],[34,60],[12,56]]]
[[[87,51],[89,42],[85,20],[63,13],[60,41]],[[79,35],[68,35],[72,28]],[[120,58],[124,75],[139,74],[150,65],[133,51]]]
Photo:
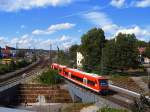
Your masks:
[[[43,84],[54,85],[61,82],[61,78],[56,70],[48,70],[39,76],[39,81]]]

